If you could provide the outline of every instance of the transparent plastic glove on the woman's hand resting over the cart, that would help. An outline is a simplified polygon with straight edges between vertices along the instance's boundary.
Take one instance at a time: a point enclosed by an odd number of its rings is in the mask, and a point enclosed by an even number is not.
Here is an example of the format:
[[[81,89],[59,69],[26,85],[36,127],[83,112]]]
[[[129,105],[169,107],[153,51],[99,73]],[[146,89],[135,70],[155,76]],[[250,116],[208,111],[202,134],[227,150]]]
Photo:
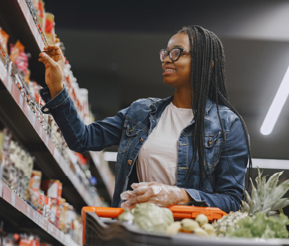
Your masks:
[[[164,185],[157,182],[141,182],[131,185],[134,190],[121,193],[120,197],[126,202],[121,204],[123,209],[132,208],[140,203],[152,203],[159,207],[185,205],[185,197],[179,187]]]

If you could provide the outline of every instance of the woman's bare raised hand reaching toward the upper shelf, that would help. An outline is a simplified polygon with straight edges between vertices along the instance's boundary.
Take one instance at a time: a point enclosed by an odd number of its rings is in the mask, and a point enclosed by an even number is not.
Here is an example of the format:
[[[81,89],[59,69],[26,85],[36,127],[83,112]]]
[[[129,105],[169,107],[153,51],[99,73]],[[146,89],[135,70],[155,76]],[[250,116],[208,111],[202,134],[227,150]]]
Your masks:
[[[49,88],[51,98],[63,89],[64,57],[57,44],[49,44],[39,54],[38,61],[45,64],[45,82]]]

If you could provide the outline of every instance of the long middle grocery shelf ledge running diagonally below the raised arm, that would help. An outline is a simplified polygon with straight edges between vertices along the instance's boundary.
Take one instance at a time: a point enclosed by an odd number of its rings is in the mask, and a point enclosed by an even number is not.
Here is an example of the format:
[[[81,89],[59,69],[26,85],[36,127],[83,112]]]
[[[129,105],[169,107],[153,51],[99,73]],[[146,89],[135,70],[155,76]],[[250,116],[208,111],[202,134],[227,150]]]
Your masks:
[[[46,178],[61,180],[63,197],[74,208],[80,211],[86,205],[102,204],[100,198],[92,197],[80,178],[74,175],[70,163],[65,162],[9,74],[6,65],[0,60],[0,80],[3,82],[0,85],[0,105],[3,105],[0,107],[0,120],[35,156],[35,166]],[[19,76],[16,79],[19,80]]]

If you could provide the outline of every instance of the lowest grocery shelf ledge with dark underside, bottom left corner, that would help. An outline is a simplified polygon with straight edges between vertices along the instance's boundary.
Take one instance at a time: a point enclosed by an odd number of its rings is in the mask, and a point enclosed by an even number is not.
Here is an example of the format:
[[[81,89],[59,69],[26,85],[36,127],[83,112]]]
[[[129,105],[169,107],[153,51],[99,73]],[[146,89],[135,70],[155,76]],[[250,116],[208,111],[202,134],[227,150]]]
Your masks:
[[[71,236],[64,234],[44,216],[32,209],[23,199],[0,180],[0,215],[15,232],[20,231],[38,234],[42,240],[56,245],[78,246]]]

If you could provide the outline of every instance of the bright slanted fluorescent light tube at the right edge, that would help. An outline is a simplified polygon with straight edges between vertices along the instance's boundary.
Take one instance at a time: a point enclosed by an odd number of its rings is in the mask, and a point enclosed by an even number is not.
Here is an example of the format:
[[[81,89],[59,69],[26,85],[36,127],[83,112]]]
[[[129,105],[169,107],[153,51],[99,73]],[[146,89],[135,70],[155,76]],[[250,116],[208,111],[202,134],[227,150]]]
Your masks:
[[[279,89],[275,95],[275,98],[269,108],[269,111],[264,119],[264,122],[260,128],[262,135],[269,135],[276,124],[276,121],[280,115],[282,107],[289,94],[289,66],[283,77],[283,80],[279,86]]]

